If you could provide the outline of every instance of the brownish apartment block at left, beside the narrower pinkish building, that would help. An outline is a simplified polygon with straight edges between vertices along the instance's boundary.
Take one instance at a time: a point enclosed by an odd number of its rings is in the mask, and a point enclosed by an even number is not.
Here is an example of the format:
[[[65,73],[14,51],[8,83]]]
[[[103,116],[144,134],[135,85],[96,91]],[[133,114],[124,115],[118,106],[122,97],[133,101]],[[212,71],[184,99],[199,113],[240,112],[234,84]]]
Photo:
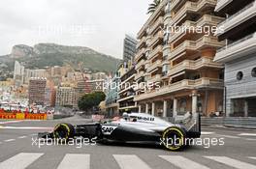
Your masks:
[[[45,105],[47,79],[33,77],[29,80],[28,102],[29,104]]]

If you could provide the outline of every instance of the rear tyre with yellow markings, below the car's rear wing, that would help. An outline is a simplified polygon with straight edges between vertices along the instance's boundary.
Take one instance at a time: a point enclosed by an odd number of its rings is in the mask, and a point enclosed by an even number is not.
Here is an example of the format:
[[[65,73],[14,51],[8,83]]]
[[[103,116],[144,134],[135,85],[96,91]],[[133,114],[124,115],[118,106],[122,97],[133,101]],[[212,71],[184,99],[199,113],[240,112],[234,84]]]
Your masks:
[[[170,151],[180,151],[185,146],[186,133],[180,127],[168,127],[162,134],[164,147]]]

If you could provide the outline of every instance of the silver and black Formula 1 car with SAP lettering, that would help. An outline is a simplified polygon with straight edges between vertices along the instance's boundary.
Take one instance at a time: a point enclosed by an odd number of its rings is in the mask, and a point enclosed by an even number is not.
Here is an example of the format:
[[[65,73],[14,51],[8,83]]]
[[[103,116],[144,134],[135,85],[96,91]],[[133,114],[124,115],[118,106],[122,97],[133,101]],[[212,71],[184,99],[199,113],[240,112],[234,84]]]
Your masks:
[[[99,143],[156,144],[171,151],[179,151],[185,147],[187,140],[201,135],[200,115],[188,114],[182,124],[172,124],[149,114],[124,113],[122,118],[111,122],[78,126],[58,124],[52,132],[39,133],[38,136],[66,140],[95,138]]]

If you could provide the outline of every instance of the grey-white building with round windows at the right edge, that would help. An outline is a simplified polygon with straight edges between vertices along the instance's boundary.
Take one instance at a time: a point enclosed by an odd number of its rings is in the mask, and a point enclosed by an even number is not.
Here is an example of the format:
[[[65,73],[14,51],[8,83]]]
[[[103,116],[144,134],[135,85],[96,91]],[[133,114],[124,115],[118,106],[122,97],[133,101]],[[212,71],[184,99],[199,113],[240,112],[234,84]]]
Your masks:
[[[256,2],[219,0],[215,12],[226,16],[216,35],[226,45],[214,61],[225,64],[226,116],[256,116]]]

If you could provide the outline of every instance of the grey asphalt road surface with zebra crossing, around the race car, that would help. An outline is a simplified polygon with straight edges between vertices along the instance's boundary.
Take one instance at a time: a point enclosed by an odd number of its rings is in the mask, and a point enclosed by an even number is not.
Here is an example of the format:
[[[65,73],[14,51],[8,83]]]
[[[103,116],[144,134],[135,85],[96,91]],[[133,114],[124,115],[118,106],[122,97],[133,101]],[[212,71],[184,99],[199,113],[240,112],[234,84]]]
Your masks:
[[[78,142],[39,146],[36,134],[60,122],[76,125],[88,120],[76,116],[56,121],[0,121],[0,169],[256,169],[253,129],[203,127],[202,144],[176,153],[141,145]],[[216,139],[224,145],[208,144],[208,140]]]

